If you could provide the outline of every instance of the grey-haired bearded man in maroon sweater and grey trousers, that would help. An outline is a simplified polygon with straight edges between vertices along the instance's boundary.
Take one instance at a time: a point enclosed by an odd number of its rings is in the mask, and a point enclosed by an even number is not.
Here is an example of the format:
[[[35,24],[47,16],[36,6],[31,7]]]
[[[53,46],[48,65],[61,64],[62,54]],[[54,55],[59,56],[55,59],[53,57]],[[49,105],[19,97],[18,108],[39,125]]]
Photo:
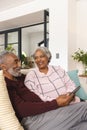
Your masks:
[[[87,103],[70,105],[74,95],[64,94],[42,101],[24,85],[19,58],[11,52],[0,55],[8,93],[18,119],[26,130],[86,130]]]

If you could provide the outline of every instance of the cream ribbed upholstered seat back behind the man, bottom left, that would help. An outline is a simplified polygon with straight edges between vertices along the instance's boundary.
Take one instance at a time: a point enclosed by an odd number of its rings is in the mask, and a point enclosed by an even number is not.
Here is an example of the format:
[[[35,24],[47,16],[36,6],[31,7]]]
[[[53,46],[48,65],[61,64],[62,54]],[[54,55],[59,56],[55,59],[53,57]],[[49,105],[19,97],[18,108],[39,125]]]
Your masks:
[[[2,70],[0,70],[0,130],[24,130],[15,116]]]

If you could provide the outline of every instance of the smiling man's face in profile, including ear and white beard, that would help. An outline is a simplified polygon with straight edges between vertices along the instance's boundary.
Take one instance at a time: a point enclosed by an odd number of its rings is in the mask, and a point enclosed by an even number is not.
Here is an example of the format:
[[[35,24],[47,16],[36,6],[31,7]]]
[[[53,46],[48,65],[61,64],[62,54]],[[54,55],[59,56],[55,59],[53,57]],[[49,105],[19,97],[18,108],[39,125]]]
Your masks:
[[[20,69],[21,69],[21,62],[18,59],[18,57],[14,54],[8,55],[6,60],[7,73],[15,77],[18,77],[21,75]]]

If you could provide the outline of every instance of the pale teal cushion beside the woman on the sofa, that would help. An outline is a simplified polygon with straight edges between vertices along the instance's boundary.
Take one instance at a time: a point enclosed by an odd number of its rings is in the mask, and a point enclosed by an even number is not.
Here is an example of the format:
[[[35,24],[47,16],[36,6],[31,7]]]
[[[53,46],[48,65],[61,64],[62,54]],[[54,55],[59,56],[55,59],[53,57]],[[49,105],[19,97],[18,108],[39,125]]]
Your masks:
[[[71,71],[68,71],[67,73],[68,73],[70,79],[74,81],[76,86],[81,86],[80,80],[78,77],[78,70],[71,70]],[[79,91],[76,93],[76,95],[83,100],[87,100],[87,93],[85,92],[85,90],[82,86],[79,89]]]

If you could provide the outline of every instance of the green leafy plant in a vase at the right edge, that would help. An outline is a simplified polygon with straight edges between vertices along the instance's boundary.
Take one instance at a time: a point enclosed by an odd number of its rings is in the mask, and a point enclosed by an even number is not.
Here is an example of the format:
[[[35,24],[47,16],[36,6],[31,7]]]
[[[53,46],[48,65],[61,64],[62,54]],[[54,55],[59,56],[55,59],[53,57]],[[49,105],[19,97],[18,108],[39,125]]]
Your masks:
[[[78,50],[72,55],[73,60],[82,62],[84,66],[84,75],[87,75],[87,52],[78,48]]]

